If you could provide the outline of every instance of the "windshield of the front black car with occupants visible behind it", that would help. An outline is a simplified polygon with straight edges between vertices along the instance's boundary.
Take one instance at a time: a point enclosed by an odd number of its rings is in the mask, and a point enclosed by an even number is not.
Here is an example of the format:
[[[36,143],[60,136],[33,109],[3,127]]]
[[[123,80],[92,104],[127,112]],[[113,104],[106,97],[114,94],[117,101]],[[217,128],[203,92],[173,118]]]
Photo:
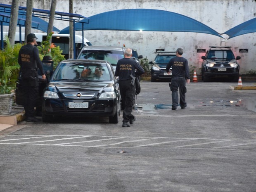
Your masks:
[[[61,63],[52,80],[110,81],[111,75],[106,64]]]

